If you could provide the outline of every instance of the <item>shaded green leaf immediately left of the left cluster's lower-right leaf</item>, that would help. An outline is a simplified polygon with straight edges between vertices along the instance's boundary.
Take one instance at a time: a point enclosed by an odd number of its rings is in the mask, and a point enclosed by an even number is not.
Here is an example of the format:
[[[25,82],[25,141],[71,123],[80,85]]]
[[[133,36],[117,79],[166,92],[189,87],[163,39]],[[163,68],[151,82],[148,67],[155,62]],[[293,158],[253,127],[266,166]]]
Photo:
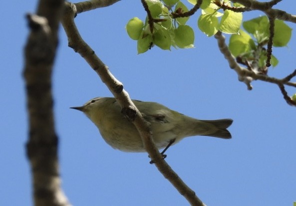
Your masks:
[[[170,50],[171,48],[171,36],[170,32],[161,27],[156,30],[156,32],[153,35],[154,43],[155,45],[159,46],[160,48],[164,50]]]

